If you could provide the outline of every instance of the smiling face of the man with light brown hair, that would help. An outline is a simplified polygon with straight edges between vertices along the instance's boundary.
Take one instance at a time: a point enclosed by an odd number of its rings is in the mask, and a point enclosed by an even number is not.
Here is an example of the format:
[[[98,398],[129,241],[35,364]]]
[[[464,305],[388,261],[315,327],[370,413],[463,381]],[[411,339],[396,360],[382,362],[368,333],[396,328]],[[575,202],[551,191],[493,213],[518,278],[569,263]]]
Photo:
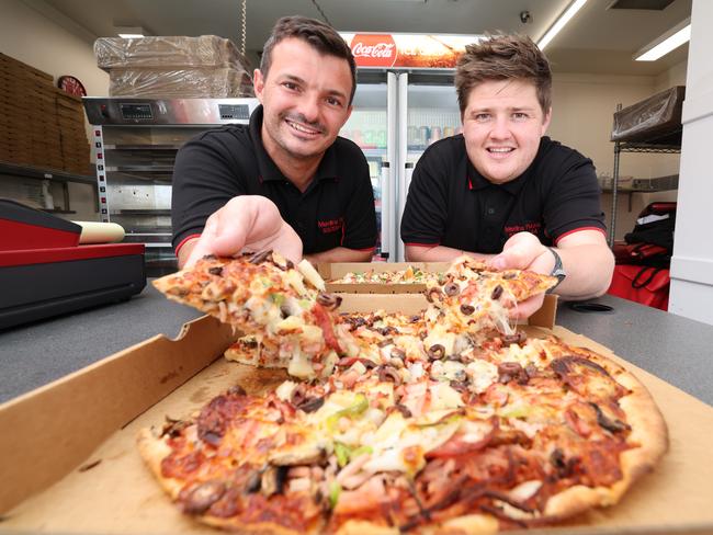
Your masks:
[[[520,177],[532,163],[550,125],[534,83],[488,80],[471,90],[463,112],[468,159],[494,184]]]

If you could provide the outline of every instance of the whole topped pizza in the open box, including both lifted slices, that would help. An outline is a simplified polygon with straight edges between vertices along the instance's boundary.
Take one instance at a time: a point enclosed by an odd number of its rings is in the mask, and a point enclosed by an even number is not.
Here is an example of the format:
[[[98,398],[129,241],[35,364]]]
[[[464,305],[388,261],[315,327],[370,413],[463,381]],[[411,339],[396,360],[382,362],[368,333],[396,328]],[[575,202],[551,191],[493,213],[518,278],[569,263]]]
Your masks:
[[[510,323],[555,282],[460,259],[418,315],[339,314],[306,262],[206,257],[156,286],[240,330],[228,358],[292,377],[139,451],[183,513],[239,533],[495,533],[612,505],[666,424],[619,364]]]

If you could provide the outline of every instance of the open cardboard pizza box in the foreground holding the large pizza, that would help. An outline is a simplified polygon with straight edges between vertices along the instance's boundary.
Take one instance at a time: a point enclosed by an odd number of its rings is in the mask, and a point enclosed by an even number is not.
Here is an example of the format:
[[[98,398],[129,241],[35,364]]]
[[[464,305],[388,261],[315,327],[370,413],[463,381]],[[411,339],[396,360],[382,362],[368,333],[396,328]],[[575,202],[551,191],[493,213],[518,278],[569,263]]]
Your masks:
[[[398,308],[411,295],[346,295],[344,310]],[[362,308],[366,305],[366,308]],[[533,319],[530,335],[554,332],[620,362],[652,391],[669,426],[656,469],[609,509],[537,533],[713,533],[713,408],[613,355],[585,337]],[[181,514],[136,449],[140,429],[181,418],[236,383],[273,388],[284,372],[220,357],[236,333],[203,317],[176,340],[163,335],[0,405],[0,532],[216,534]],[[512,532],[514,533],[514,532]]]

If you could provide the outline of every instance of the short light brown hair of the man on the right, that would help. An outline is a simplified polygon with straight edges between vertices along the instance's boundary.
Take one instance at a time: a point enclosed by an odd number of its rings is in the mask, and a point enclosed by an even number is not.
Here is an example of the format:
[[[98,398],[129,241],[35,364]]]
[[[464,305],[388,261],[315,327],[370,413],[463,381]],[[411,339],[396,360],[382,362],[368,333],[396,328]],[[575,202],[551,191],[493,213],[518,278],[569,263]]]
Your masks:
[[[537,101],[546,114],[552,106],[550,61],[530,37],[494,34],[467,45],[455,68],[455,91],[461,114],[468,105],[471,90],[489,80],[529,80],[537,91]]]

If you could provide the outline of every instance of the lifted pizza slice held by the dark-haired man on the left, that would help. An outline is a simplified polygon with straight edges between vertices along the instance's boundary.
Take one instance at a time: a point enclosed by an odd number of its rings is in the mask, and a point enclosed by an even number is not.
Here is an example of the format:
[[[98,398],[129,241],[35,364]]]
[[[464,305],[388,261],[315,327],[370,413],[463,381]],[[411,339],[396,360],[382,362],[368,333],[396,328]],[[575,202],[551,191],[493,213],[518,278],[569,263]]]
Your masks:
[[[169,299],[251,337],[228,350],[238,362],[286,367],[296,377],[314,378],[353,345],[335,312],[341,297],[325,293],[324,281],[306,260],[295,265],[273,251],[235,259],[207,255],[154,285]]]

